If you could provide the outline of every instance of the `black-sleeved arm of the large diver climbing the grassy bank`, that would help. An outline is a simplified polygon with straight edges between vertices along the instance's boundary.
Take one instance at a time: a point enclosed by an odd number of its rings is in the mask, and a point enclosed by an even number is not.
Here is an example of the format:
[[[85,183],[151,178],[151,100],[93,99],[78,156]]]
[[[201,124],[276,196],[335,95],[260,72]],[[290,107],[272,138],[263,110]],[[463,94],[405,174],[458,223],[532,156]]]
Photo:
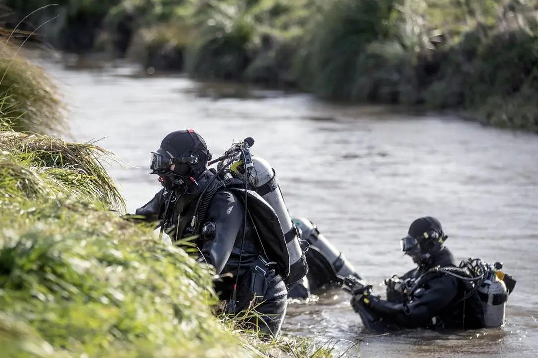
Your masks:
[[[217,274],[228,262],[237,234],[242,228],[242,206],[229,191],[218,191],[208,210],[207,221],[215,224],[215,237],[202,245],[202,255],[215,267]],[[206,221],[206,222],[207,222]]]

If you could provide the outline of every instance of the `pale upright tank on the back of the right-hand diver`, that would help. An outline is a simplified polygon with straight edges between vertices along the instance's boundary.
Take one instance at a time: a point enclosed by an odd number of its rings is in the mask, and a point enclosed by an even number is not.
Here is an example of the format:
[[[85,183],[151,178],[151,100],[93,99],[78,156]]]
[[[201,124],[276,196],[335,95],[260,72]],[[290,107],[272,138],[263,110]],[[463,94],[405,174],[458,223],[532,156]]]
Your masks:
[[[486,327],[500,327],[504,324],[507,299],[506,284],[493,275],[478,289],[482,298],[484,324]]]

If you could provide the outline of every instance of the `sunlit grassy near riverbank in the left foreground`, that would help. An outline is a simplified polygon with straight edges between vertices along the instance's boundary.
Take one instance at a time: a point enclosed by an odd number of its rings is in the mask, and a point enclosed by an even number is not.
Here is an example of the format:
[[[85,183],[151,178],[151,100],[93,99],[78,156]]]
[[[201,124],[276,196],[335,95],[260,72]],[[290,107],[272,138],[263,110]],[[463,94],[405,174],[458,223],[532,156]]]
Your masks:
[[[215,317],[214,272],[119,216],[124,201],[102,165],[114,155],[44,134],[66,127],[58,90],[16,49],[0,52],[9,73],[0,83],[6,356],[331,355],[308,340],[260,340],[240,318]]]

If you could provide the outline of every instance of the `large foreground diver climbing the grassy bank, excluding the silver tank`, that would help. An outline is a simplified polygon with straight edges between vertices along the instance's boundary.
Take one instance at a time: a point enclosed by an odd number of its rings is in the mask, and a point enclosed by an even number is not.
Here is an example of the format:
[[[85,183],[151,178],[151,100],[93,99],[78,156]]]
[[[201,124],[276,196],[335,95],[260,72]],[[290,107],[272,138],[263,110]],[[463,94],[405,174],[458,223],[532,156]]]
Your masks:
[[[253,140],[237,144],[228,157],[250,163],[249,144]],[[161,234],[173,242],[194,239],[198,260],[221,277],[215,291],[226,303],[225,312],[253,309],[257,314],[249,314],[256,317],[247,319],[248,327],[277,336],[287,307],[284,280],[294,274],[285,234],[264,199],[243,181],[208,169],[209,160],[206,142],[193,130],[166,135],[150,162],[150,174],[157,174],[164,188],[136,215],[159,223]]]

